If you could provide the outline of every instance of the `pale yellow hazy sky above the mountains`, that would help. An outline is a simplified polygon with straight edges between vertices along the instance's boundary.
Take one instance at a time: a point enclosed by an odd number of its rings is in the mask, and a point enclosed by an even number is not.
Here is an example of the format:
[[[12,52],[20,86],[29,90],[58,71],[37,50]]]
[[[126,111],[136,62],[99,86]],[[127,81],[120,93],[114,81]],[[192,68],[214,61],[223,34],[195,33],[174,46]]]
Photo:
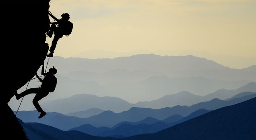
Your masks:
[[[50,11],[74,23],[57,56],[193,54],[231,68],[256,64],[256,0],[51,0]]]

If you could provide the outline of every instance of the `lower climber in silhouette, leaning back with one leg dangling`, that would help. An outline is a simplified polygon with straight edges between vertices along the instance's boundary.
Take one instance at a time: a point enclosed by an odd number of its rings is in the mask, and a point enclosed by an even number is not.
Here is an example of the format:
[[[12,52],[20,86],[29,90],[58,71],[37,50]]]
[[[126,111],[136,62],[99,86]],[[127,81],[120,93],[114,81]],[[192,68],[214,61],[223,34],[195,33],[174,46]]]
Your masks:
[[[35,76],[39,79],[39,81],[42,82],[40,88],[30,88],[28,90],[25,90],[21,94],[18,94],[17,92],[15,93],[17,100],[31,93],[36,94],[33,99],[33,104],[37,109],[37,111],[40,112],[40,116],[38,118],[42,118],[46,114],[46,112],[44,112],[41,106],[38,104],[38,101],[44,98],[45,96],[47,96],[49,92],[54,92],[57,84],[57,78],[54,76],[54,74],[57,73],[57,69],[54,67],[50,68],[49,71],[46,73],[43,72],[43,69],[44,69],[44,64],[42,66],[42,72],[41,72],[41,74],[45,76],[43,80],[37,75],[37,73],[35,74]]]

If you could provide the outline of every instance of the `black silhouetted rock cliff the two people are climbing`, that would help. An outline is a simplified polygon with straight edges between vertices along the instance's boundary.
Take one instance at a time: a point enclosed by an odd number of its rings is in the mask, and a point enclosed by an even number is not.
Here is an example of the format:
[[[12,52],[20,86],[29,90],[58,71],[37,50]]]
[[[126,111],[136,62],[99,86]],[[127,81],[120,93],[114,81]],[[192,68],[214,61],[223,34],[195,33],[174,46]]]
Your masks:
[[[1,102],[4,105],[4,136],[8,139],[27,139],[7,103],[14,92],[33,78],[46,58],[49,49],[45,43],[45,33],[50,28],[49,2],[50,0],[10,0],[2,3],[5,7],[1,9],[4,20],[2,56],[7,57],[8,61],[2,60],[4,92],[1,93]]]

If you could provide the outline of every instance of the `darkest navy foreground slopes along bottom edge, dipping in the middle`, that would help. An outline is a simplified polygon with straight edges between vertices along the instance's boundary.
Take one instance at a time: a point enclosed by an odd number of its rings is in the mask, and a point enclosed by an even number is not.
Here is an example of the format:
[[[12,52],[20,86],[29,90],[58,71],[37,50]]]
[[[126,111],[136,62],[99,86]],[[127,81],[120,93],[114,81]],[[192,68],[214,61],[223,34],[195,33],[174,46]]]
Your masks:
[[[154,134],[127,138],[96,137],[79,131],[62,131],[39,123],[23,123],[30,140],[254,140],[256,98],[213,110]]]

